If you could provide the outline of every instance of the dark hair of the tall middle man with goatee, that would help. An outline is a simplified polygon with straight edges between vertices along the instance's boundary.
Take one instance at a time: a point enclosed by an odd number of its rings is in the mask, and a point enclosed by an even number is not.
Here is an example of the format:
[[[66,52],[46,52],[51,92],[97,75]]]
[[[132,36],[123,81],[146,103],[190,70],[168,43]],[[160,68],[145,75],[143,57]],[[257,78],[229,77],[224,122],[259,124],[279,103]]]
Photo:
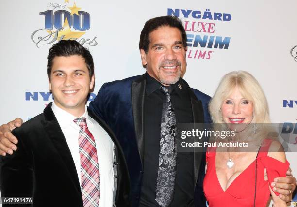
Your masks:
[[[187,35],[182,25],[182,20],[176,16],[159,16],[156,18],[149,19],[140,34],[139,40],[139,50],[143,49],[148,53],[148,44],[149,44],[149,34],[157,30],[160,27],[173,27],[177,28],[181,32],[182,44],[184,47],[187,46]]]

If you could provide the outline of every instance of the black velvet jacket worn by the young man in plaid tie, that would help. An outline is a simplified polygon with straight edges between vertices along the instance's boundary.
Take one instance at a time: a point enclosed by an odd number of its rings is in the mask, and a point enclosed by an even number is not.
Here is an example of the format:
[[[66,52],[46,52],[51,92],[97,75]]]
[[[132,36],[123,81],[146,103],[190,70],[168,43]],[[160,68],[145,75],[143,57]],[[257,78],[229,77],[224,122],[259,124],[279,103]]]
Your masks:
[[[116,146],[116,205],[128,207],[130,187],[123,151],[106,123],[88,113]],[[44,113],[16,128],[13,134],[18,137],[18,150],[1,157],[0,162],[2,196],[34,197],[34,207],[83,207],[79,177],[51,103]]]

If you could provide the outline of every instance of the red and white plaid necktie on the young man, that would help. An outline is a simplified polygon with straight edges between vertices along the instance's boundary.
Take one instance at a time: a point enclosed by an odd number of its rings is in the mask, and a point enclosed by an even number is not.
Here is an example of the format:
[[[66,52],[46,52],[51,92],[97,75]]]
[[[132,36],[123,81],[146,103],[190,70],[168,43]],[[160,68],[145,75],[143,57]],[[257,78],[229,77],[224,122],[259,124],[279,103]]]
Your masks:
[[[76,118],[73,121],[81,128],[79,150],[83,207],[99,207],[100,174],[95,140],[86,125],[86,118]]]

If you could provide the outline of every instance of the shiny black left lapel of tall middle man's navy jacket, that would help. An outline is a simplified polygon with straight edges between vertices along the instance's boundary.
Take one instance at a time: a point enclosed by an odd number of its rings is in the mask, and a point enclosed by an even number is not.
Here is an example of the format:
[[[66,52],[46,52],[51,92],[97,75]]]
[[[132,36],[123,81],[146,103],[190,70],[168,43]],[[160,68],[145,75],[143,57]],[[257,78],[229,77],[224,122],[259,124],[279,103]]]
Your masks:
[[[138,145],[141,163],[144,160],[144,101],[146,91],[146,74],[132,82],[132,112],[134,118],[134,128]]]

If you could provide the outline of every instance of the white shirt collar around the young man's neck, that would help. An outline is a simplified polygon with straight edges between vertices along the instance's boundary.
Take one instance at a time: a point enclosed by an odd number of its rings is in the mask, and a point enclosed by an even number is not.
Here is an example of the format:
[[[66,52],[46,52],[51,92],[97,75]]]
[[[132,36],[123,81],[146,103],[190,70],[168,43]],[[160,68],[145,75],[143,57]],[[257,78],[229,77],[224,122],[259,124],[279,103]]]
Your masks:
[[[75,127],[75,128],[79,127],[73,120],[75,118],[82,118],[82,117],[86,118],[87,126],[93,126],[92,119],[89,117],[88,110],[87,110],[86,106],[84,109],[84,113],[81,117],[73,116],[72,114],[70,114],[70,113],[66,112],[65,110],[63,110],[62,108],[58,107],[54,102],[51,105],[51,109],[52,109],[55,117],[57,118],[61,128],[65,128],[69,125],[72,127]]]

